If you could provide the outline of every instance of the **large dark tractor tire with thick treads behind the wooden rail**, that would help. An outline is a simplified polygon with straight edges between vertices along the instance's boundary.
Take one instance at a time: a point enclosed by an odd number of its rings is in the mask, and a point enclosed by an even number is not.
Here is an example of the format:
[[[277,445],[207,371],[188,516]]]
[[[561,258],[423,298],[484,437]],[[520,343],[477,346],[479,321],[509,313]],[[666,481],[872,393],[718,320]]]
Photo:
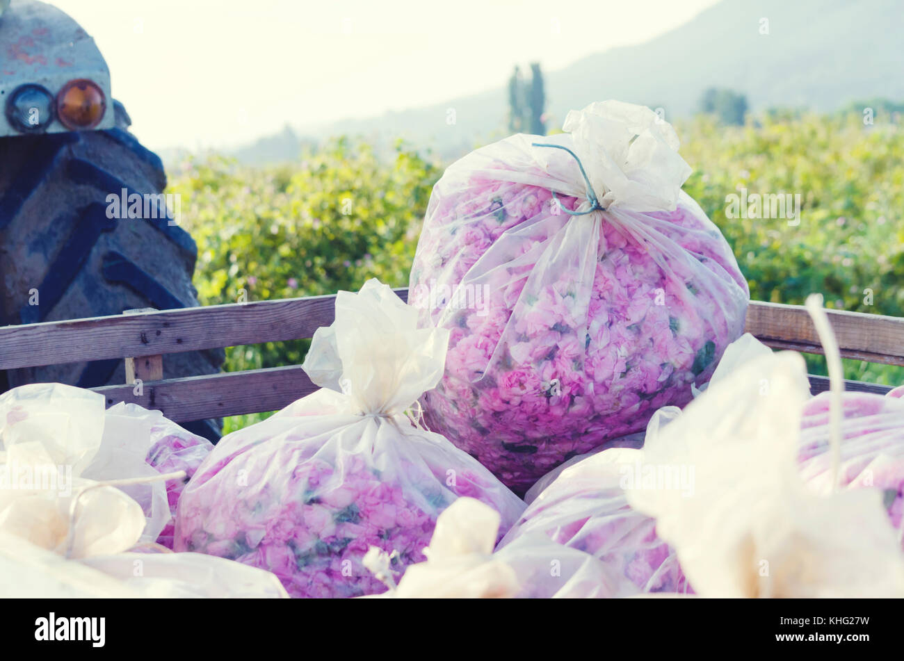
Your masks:
[[[198,305],[197,247],[167,219],[109,219],[108,195],[156,195],[163,163],[114,104],[105,131],[0,138],[0,325]],[[36,303],[36,304],[35,304]],[[164,377],[220,370],[222,349],[164,356]],[[4,383],[5,381],[5,383]],[[34,382],[126,383],[122,359],[0,371],[0,392]],[[216,442],[219,421],[184,424]]]

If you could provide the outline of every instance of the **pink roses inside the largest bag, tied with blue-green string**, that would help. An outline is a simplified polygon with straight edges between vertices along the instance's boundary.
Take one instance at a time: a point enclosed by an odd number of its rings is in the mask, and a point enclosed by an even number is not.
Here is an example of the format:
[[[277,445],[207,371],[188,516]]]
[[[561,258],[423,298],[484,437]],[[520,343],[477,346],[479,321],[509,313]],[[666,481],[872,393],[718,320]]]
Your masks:
[[[516,492],[687,404],[739,337],[749,298],[730,247],[685,195],[645,214],[646,238],[598,221],[592,257],[573,268],[542,259],[589,219],[551,209],[550,191],[485,172],[451,191],[440,181],[411,272],[422,324],[450,332],[425,419]]]

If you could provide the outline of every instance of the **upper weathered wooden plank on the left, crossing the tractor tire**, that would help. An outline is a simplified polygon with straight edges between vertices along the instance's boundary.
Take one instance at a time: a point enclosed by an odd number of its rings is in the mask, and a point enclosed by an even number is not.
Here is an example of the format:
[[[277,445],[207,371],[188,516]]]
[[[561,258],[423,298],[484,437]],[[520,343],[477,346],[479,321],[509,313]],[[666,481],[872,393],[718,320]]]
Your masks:
[[[3,326],[0,369],[310,338],[333,323],[334,307],[330,294]]]

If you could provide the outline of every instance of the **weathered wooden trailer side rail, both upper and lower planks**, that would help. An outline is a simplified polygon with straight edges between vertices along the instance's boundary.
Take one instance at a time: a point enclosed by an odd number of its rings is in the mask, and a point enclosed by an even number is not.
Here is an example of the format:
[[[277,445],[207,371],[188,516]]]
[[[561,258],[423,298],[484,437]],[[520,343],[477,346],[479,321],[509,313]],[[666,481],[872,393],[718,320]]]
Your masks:
[[[408,290],[395,290],[407,300]],[[137,312],[71,321],[0,327],[0,369],[121,358],[142,380],[93,388],[108,405],[134,402],[175,422],[273,411],[315,390],[300,366],[250,369],[202,377],[160,379],[160,357],[269,341],[310,338],[334,320],[335,295]],[[904,319],[826,311],[843,358],[904,366]],[[822,353],[801,305],[750,302],[746,330],[770,347]],[[813,391],[825,377],[810,377]],[[850,390],[885,393],[888,386],[848,381]]]

